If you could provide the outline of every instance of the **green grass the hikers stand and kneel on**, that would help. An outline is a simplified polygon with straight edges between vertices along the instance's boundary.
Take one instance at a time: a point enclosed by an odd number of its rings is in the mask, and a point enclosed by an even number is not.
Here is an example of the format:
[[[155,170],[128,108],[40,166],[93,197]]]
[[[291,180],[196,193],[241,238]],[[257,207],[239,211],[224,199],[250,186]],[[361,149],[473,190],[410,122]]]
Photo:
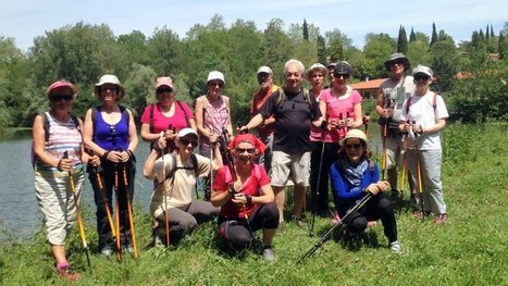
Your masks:
[[[402,254],[392,253],[379,224],[358,247],[345,245],[342,229],[301,264],[296,261],[332,226],[317,219],[315,236],[287,223],[274,239],[276,261],[253,250],[228,256],[219,250],[213,223],[199,227],[177,248],[146,248],[151,219],[137,208],[140,258],[122,263],[92,251],[88,273],[77,227],[67,244],[69,260],[82,274],[76,285],[508,285],[508,124],[455,124],[445,133],[443,181],[448,223],[397,214]],[[407,195],[406,195],[407,199]],[[94,213],[86,210],[87,235],[95,249]],[[63,285],[53,270],[42,232],[16,243],[1,241],[0,284]]]

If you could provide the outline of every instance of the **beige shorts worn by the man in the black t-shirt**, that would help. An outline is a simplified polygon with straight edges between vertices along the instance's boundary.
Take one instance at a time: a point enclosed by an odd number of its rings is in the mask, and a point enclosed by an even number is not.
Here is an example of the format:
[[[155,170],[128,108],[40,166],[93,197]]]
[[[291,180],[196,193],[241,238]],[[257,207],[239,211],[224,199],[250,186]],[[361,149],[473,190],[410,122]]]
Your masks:
[[[272,186],[285,187],[288,179],[295,185],[308,187],[310,177],[310,151],[288,154],[273,151],[270,170]]]

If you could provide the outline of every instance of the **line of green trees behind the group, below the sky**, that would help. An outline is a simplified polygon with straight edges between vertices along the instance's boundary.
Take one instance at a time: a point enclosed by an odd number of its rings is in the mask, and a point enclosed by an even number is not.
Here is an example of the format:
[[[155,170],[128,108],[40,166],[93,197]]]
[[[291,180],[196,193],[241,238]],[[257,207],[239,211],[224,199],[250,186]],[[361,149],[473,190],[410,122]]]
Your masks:
[[[193,104],[206,91],[207,75],[213,70],[225,75],[224,92],[233,99],[234,121],[245,122],[261,65],[271,66],[275,83],[282,84],[288,59],[299,59],[306,66],[346,60],[354,66],[350,82],[359,82],[386,77],[383,63],[396,51],[406,53],[413,65],[434,70],[433,88],[445,96],[457,120],[506,120],[507,33],[508,22],[498,35],[487,25],[485,33],[472,32],[470,41],[457,45],[444,30],[437,32],[434,23],[431,37],[411,28],[409,39],[400,26],[397,38],[368,34],[359,49],[340,29],[321,34],[306,20],[286,28],[284,21],[273,18],[260,30],[244,20],[227,27],[215,14],[207,25],[193,26],[184,38],[166,26],[156,28],[151,36],[139,30],[115,36],[106,24],[78,22],[36,37],[24,53],[13,38],[0,36],[0,128],[32,126],[34,116],[48,108],[46,87],[57,79],[78,86],[73,113],[83,115],[98,104],[94,84],[102,74],[115,74],[126,88],[122,104],[140,116],[154,101],[157,76],[172,76],[177,99]]]

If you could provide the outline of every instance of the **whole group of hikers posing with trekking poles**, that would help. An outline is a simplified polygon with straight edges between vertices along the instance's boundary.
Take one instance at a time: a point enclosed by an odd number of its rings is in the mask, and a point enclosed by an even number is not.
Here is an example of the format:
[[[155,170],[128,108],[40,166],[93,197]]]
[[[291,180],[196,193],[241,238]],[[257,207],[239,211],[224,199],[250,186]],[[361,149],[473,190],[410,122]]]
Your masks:
[[[420,189],[414,215],[434,212],[435,222],[443,223],[439,130],[448,116],[446,107],[430,91],[430,67],[419,65],[413,77],[406,76],[409,61],[399,53],[385,65],[392,77],[380,88],[376,107],[382,128],[391,130],[383,133],[382,176],[369,159],[368,138],[360,130],[361,96],[348,85],[352,67],[345,61],[326,67],[315,63],[306,71],[292,59],[284,66],[283,87],[273,83],[269,66],[261,66],[252,117],[237,128],[236,136],[221,72],[209,73],[207,94],[196,99],[194,113],[176,100],[171,77],[157,78],[157,102],[146,107],[140,119],[141,138],[151,149],[143,174],[153,179],[154,244],[173,245],[199,223],[218,216],[219,236],[235,251],[249,247],[253,232],[262,229],[262,256],[273,261],[272,240],[285,223],[286,186],[293,185],[293,220],[302,227],[309,185],[312,213],[331,216],[331,181],[335,222],[365,194],[372,196],[347,216],[348,237],[358,236],[368,221],[381,219],[389,248],[398,252],[394,207],[380,194],[398,195],[396,166],[406,149],[414,197]],[[310,90],[302,87],[305,77]],[[326,78],[330,86],[324,86]],[[69,279],[79,277],[70,269],[64,245],[79,220],[85,165],[97,206],[99,252],[107,257],[115,252],[119,260],[122,252],[137,256],[132,209],[136,124],[132,112],[120,104],[125,88],[116,76],[103,75],[95,95],[100,105],[89,109],[82,122],[70,115],[77,87],[65,80],[53,83],[46,92],[50,110],[35,117],[33,128],[35,189],[58,273]],[[257,136],[248,134],[250,129]],[[193,197],[199,179],[206,186],[205,200]]]

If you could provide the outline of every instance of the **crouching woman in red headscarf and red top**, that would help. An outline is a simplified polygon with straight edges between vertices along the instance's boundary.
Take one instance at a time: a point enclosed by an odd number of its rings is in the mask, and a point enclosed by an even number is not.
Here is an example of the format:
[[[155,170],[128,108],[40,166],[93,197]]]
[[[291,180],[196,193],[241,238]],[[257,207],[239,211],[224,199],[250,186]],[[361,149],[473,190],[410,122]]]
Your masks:
[[[278,210],[270,178],[257,156],[267,147],[250,134],[241,134],[230,142],[234,166],[223,166],[212,185],[211,202],[221,207],[219,235],[233,250],[248,247],[252,232],[263,229],[263,258],[273,261],[272,239],[278,226]]]

